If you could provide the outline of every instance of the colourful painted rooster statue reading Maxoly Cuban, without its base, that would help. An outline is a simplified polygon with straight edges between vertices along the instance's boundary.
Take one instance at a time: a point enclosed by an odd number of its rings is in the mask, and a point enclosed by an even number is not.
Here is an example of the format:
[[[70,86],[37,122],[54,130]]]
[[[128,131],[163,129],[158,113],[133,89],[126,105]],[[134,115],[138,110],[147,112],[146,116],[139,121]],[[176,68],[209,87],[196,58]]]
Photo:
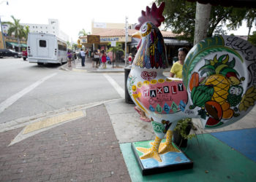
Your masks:
[[[256,50],[237,37],[200,41],[187,55],[182,80],[164,76],[165,43],[157,28],[165,20],[164,7],[153,4],[142,11],[135,26],[141,39],[127,79],[129,95],[151,119],[156,135],[150,149],[138,148],[140,159],[158,162],[160,154],[178,151],[172,136],[179,120],[200,117],[203,127],[226,126],[245,116],[256,99]]]

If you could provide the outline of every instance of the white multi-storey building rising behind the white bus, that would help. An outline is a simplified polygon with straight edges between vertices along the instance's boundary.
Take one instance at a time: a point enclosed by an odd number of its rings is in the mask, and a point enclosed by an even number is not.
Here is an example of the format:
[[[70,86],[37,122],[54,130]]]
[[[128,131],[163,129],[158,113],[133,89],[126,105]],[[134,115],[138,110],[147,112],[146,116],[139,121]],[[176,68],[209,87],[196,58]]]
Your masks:
[[[51,33],[64,41],[69,41],[69,36],[59,29],[59,20],[57,19],[48,19],[48,24],[20,23],[20,25],[29,26],[29,32]]]

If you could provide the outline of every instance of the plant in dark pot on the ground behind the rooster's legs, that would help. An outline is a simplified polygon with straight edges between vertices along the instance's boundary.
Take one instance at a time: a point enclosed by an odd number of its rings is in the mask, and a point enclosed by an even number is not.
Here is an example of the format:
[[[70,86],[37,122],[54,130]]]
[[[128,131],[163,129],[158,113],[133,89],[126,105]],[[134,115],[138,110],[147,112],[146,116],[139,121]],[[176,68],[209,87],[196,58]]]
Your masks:
[[[191,118],[178,121],[173,130],[173,143],[176,143],[178,147],[187,147],[187,140],[195,137],[195,134],[189,134],[192,128],[195,129]]]

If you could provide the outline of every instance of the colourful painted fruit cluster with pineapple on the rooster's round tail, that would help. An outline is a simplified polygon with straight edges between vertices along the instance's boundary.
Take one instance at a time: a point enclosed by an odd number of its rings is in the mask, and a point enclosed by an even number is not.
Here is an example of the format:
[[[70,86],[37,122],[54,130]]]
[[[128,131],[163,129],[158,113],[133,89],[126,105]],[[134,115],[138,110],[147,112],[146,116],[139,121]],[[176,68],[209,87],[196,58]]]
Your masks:
[[[239,78],[235,65],[235,58],[229,60],[229,55],[214,55],[212,60],[206,59],[205,65],[199,68],[201,77],[197,72],[191,76],[190,84],[195,83],[195,87],[189,85],[193,103],[189,108],[200,107],[198,114],[201,118],[208,116],[206,127],[216,127],[223,124],[222,119],[239,116],[234,108],[238,110],[237,105],[242,99],[243,87],[240,84],[244,77]]]

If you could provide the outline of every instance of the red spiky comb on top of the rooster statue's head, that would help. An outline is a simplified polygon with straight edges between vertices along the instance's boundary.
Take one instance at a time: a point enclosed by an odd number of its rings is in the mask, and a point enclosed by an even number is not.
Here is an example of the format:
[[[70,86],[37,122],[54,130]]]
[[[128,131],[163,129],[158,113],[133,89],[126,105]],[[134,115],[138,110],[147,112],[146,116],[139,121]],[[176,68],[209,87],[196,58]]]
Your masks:
[[[162,4],[157,8],[157,5],[155,3],[152,4],[152,7],[146,7],[146,12],[143,10],[141,11],[141,17],[138,18],[139,24],[135,25],[136,30],[140,30],[141,25],[143,23],[146,23],[147,21],[154,23],[157,27],[161,25],[161,23],[165,20],[165,17],[163,17],[162,12],[165,8],[165,2],[162,2]]]

